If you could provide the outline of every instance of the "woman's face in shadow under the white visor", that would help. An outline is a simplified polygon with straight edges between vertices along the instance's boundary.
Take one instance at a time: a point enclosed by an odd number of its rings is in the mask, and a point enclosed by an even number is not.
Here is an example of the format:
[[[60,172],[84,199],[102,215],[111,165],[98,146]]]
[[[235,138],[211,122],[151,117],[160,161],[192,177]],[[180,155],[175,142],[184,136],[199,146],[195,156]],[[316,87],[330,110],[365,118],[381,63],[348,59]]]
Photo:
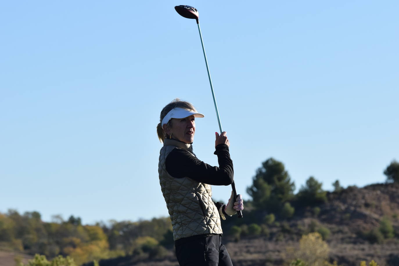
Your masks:
[[[196,122],[194,120],[194,115],[186,118],[172,118],[172,127],[166,133],[181,142],[192,143],[196,132]]]

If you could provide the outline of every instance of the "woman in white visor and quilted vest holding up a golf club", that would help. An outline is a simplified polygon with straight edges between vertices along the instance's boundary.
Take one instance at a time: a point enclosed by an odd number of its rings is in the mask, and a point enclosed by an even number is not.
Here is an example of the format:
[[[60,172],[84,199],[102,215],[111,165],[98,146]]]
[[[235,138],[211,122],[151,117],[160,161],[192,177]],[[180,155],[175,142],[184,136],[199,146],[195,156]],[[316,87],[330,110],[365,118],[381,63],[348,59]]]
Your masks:
[[[227,205],[212,201],[211,185],[233,182],[233,162],[226,132],[215,132],[219,167],[200,161],[193,152],[195,118],[204,117],[190,102],[175,99],[166,105],[157,126],[164,143],[158,173],[172,220],[176,256],[180,265],[233,265],[221,242],[220,219],[243,210],[241,195]]]

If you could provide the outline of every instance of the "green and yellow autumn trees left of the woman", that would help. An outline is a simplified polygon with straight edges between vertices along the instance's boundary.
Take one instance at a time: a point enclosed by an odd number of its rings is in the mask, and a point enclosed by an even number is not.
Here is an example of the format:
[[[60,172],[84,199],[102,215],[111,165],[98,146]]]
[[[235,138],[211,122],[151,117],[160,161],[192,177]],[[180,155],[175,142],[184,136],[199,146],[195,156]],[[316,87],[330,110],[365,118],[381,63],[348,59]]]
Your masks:
[[[64,221],[61,216],[53,217],[51,223],[41,221],[40,213],[25,212],[20,215],[16,210],[0,213],[0,241],[15,251],[30,254],[42,254],[55,257],[59,254],[73,258],[76,264],[83,264],[103,258],[124,256],[128,252],[142,253],[145,256],[162,257],[166,249],[159,246],[166,233],[173,241],[172,224],[169,218],[152,219],[150,221],[113,222],[105,225],[81,224],[79,217],[71,216]],[[148,236],[155,245],[137,241]],[[43,257],[37,258],[45,263]]]

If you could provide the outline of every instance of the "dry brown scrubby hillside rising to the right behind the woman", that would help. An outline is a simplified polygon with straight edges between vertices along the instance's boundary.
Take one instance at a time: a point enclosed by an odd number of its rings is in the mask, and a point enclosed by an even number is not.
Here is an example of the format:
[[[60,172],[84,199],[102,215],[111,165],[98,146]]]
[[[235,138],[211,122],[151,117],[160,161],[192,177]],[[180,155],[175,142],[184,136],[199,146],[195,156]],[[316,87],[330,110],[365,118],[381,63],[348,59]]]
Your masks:
[[[399,184],[373,184],[363,188],[348,187],[340,193],[328,193],[328,203],[296,210],[292,219],[269,225],[269,234],[243,235],[238,241],[225,233],[225,245],[234,265],[284,265],[290,248],[297,248],[302,234],[326,228],[330,262],[359,266],[362,260],[375,260],[379,266],[399,266]],[[248,213],[247,213],[248,214]],[[248,215],[247,215],[248,216]],[[368,234],[379,227],[383,217],[393,225],[395,236],[375,242]],[[245,218],[244,218],[245,220]],[[250,224],[251,221],[244,221]],[[226,231],[225,231],[226,232]],[[87,264],[90,265],[90,264]],[[103,260],[101,266],[178,265],[172,250],[164,260],[139,260],[129,256]]]

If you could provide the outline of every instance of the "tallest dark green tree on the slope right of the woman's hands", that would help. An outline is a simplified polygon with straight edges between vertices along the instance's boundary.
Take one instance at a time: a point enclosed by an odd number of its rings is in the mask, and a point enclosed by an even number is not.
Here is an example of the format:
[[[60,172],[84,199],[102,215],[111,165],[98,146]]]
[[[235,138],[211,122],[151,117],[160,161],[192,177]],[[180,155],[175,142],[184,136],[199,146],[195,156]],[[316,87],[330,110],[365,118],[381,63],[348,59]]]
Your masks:
[[[247,193],[253,198],[255,207],[277,212],[292,199],[294,189],[294,182],[291,182],[284,164],[269,158],[257,169]]]

